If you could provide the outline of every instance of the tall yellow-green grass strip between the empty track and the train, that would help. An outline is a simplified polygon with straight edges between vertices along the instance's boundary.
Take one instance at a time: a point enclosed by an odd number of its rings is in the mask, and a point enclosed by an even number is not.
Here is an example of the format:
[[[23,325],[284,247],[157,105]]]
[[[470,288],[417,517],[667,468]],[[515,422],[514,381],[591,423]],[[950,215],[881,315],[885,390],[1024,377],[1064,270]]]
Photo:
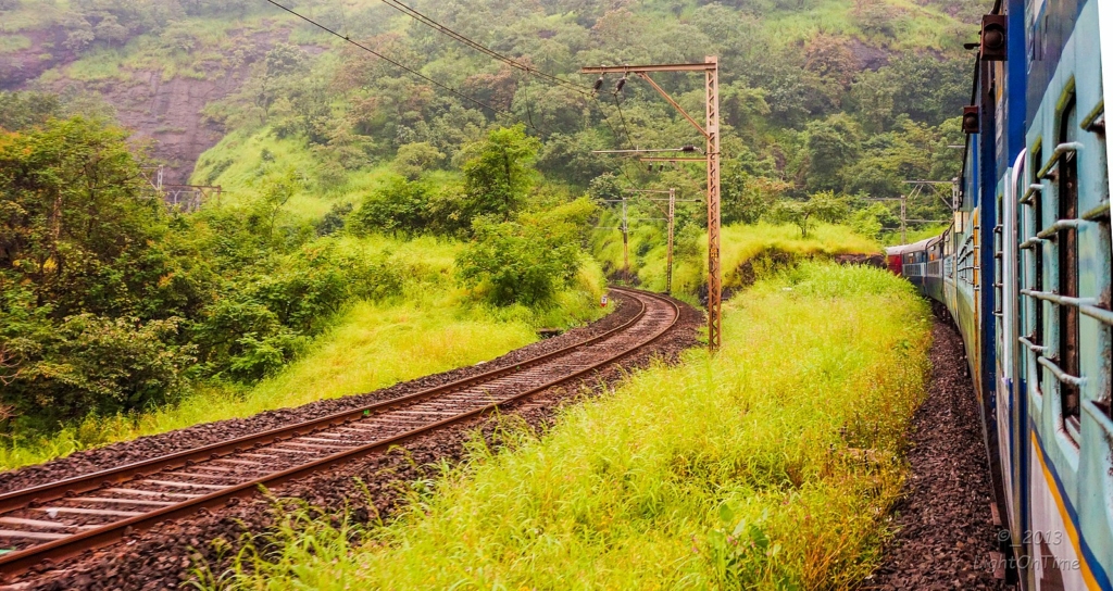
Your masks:
[[[905,477],[928,326],[898,278],[806,263],[726,306],[717,356],[641,372],[540,437],[509,426],[511,451],[475,445],[386,525],[289,510],[207,584],[853,588]]]

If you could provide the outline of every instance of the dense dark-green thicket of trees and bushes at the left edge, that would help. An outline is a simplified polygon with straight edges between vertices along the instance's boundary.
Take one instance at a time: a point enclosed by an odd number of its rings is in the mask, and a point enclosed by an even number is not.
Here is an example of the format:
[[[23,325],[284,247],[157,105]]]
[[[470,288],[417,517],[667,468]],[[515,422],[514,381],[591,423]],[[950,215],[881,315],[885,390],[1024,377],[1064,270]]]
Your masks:
[[[0,136],[0,420],[17,417],[9,426],[165,404],[187,374],[258,380],[353,298],[420,280],[388,253],[315,239],[311,225],[289,223],[286,204],[302,190],[292,174],[265,179],[246,206],[171,216],[144,193],[124,131],[83,119],[36,125]],[[343,210],[334,217],[333,232]]]

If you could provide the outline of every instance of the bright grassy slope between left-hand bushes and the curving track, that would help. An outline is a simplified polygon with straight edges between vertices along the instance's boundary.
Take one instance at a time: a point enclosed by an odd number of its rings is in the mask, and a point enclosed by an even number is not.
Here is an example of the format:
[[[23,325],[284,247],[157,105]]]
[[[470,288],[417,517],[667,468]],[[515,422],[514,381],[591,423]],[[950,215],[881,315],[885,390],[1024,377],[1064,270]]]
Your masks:
[[[570,326],[603,313],[598,306],[603,279],[593,262],[585,262],[574,285],[548,309],[520,305],[493,309],[475,304],[455,285],[453,258],[461,243],[344,240],[347,248],[363,248],[367,257],[388,259],[417,278],[400,296],[353,303],[297,361],[254,386],[199,382],[191,395],[171,406],[140,415],[89,417],[50,435],[19,439],[0,446],[0,470],[199,423],[374,391],[498,357],[534,342],[539,327]]]

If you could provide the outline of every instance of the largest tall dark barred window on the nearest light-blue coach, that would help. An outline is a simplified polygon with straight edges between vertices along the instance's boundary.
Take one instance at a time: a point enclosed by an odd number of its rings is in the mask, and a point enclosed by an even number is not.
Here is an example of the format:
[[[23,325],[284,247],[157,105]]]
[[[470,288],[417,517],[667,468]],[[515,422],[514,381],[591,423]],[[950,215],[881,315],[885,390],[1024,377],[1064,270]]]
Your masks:
[[[1072,101],[1063,110],[1060,124],[1060,141],[1074,140],[1074,129],[1077,127],[1077,112]],[[1075,154],[1066,152],[1058,166],[1058,219],[1077,219],[1078,217],[1078,161]],[[1078,297],[1078,230],[1075,227],[1062,229],[1056,237],[1058,252],[1058,294],[1066,297]],[[1081,374],[1078,355],[1078,307],[1060,305],[1058,307],[1058,363],[1063,372],[1076,376]],[[1078,395],[1077,384],[1061,382],[1060,392],[1063,403],[1063,417],[1077,420]]]

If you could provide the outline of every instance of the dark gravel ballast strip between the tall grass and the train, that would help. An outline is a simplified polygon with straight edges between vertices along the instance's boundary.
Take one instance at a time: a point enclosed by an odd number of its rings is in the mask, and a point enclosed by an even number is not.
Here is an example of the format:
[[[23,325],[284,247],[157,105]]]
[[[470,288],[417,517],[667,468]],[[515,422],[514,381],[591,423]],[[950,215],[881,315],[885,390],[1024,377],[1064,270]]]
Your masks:
[[[993,574],[989,467],[962,337],[949,321],[936,319],[932,334],[928,396],[913,417],[897,532],[861,589],[1009,589]]]

